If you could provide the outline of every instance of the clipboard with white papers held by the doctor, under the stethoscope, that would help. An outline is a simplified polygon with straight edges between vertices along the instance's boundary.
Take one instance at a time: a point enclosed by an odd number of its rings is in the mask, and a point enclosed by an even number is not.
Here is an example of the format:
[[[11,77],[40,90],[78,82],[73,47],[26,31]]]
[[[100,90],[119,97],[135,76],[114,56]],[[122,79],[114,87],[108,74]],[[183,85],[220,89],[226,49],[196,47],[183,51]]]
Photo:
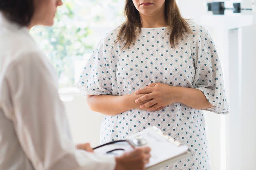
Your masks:
[[[138,139],[140,139],[138,143]],[[143,140],[142,140],[143,139]],[[164,135],[157,127],[148,127],[143,131],[130,135],[125,140],[113,141],[94,148],[98,154],[114,154],[119,156],[124,152],[132,151],[136,147],[148,146],[151,148],[150,162],[146,164],[146,170],[155,170],[178,160],[192,156],[188,146],[182,145],[174,138]],[[138,145],[142,144],[142,145]],[[113,152],[112,152],[113,151]]]

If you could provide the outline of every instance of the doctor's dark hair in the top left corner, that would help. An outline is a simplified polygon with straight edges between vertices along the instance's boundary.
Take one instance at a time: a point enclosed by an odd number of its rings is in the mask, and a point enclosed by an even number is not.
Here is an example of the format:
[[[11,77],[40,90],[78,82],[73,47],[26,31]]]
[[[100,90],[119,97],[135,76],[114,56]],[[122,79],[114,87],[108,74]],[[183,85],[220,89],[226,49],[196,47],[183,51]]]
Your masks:
[[[28,26],[34,14],[34,0],[0,0],[0,12],[9,21]]]

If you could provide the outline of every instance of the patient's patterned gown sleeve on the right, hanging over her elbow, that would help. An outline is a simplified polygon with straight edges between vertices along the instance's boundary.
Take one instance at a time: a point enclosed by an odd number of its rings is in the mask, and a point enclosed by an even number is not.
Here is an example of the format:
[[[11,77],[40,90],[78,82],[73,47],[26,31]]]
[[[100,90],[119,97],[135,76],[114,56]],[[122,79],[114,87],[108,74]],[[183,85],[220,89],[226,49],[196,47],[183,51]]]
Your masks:
[[[196,69],[193,87],[202,91],[210,104],[214,106],[205,110],[227,114],[229,112],[228,102],[218,53],[208,31],[201,26],[197,31],[200,32],[198,37],[193,35],[196,39],[193,41],[194,51],[192,50]]]

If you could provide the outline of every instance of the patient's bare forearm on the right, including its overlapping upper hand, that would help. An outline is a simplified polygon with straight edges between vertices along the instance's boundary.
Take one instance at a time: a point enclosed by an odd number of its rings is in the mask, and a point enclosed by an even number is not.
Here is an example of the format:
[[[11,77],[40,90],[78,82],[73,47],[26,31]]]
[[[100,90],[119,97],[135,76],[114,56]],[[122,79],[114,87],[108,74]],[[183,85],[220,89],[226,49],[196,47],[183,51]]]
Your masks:
[[[138,90],[136,94],[141,94],[142,92],[147,94],[138,98],[135,102],[141,103],[145,100],[150,100],[140,105],[141,109],[149,108],[148,111],[154,111],[158,107],[165,107],[175,102],[182,103],[194,109],[214,107],[208,102],[202,91],[194,88],[152,83],[146,88]]]

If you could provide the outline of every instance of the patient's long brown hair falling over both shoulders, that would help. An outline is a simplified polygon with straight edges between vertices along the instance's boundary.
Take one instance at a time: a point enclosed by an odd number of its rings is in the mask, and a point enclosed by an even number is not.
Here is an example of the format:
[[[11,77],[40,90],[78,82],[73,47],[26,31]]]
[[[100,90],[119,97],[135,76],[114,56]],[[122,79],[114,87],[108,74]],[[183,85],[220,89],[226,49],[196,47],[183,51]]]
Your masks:
[[[175,47],[184,33],[191,33],[191,29],[187,21],[182,18],[175,0],[165,0],[164,14],[166,23],[170,26],[170,45]],[[123,48],[126,49],[134,43],[141,31],[142,23],[140,13],[135,8],[132,0],[126,0],[124,15],[126,21],[120,27],[117,41],[121,44],[124,43]]]

